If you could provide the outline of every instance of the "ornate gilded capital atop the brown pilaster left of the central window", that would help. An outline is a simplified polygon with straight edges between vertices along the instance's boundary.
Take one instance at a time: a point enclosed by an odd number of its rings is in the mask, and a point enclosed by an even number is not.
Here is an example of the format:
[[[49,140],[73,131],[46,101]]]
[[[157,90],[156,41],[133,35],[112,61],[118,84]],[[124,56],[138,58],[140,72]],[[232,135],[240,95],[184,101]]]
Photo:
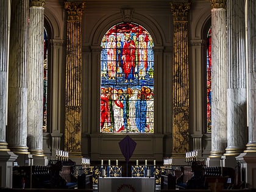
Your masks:
[[[82,21],[84,14],[85,2],[84,1],[65,1],[65,9],[68,13],[68,20]]]

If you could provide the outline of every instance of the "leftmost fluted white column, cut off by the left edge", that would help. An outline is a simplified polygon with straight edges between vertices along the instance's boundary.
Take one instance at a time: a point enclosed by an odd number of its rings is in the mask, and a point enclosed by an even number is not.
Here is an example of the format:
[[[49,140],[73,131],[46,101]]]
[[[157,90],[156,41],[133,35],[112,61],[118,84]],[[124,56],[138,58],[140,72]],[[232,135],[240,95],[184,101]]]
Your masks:
[[[7,68],[10,40],[10,1],[0,1],[0,151],[9,151],[6,140]]]

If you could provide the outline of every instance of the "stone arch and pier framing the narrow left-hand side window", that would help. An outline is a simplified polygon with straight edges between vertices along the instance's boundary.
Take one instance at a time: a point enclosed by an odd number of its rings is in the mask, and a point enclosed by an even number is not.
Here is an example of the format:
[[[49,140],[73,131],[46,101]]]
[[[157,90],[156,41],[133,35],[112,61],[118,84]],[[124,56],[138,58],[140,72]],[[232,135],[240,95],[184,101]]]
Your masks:
[[[54,155],[62,148],[65,119],[65,40],[64,26],[49,9],[44,9],[44,28],[48,33],[48,128],[43,133],[44,154]],[[63,27],[60,27],[63,26]]]

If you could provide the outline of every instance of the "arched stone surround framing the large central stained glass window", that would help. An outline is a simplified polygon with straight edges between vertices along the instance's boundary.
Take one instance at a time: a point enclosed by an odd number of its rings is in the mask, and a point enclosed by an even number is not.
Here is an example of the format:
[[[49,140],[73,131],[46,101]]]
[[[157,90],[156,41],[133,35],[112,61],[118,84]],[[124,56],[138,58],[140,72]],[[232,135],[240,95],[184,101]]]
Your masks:
[[[163,89],[166,83],[171,82],[172,74],[169,74],[168,78],[163,78],[163,70],[165,65],[168,67],[171,62],[172,53],[168,53],[168,59],[164,59],[164,44],[163,41],[166,39],[161,27],[154,23],[154,20],[150,20],[143,15],[134,13],[132,16],[133,23],[140,24],[151,34],[154,40],[154,82],[155,82],[155,104],[154,104],[154,119],[155,119],[155,132],[153,135],[140,135],[132,134],[131,137],[137,142],[138,145],[143,146],[141,149],[143,153],[133,155],[134,158],[140,156],[140,158],[152,158],[162,160],[163,157],[163,118],[170,118],[163,114],[163,105],[171,105],[171,94],[169,98],[165,97],[166,90]],[[88,143],[91,149],[84,149],[85,153],[87,150],[91,152],[92,159],[99,158],[111,158],[113,157],[122,158],[122,154],[119,152],[118,142],[125,136],[122,134],[116,135],[104,135],[99,133],[99,106],[100,106],[100,83],[101,83],[101,40],[105,33],[111,27],[118,23],[123,23],[121,13],[116,13],[111,16],[105,16],[94,24],[88,42],[84,42],[82,49],[83,59],[83,90],[82,90],[82,101],[83,113],[82,119],[84,136],[82,140]],[[169,45],[170,46],[170,45]],[[171,48],[168,48],[171,49]],[[168,63],[168,64],[167,64]],[[165,98],[165,100],[164,100]],[[90,135],[90,140],[87,138]],[[83,141],[82,141],[83,142]],[[83,142],[84,143],[84,142]],[[97,143],[97,144],[96,144]]]

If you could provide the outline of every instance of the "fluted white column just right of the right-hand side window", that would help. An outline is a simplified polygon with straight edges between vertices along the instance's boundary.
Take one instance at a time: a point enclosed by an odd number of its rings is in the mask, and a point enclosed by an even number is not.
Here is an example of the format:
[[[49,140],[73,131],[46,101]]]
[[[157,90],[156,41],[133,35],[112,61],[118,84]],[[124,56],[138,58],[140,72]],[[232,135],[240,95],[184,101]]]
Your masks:
[[[226,1],[212,2],[212,151],[221,157],[227,147]]]

